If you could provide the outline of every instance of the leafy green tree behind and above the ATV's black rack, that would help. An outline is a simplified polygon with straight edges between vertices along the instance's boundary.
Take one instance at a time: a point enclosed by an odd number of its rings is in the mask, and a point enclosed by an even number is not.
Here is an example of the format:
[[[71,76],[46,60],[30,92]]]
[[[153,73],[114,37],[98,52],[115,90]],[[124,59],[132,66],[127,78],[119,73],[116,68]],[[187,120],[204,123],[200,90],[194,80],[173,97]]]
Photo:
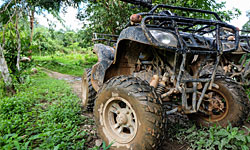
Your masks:
[[[168,4],[218,12],[224,20],[230,20],[240,14],[238,9],[221,11],[225,2],[216,0],[153,0],[153,4]],[[86,36],[93,32],[119,34],[129,21],[130,15],[146,11],[120,0],[89,0],[78,13],[78,18],[88,22],[83,28]],[[190,14],[193,15],[193,14]]]

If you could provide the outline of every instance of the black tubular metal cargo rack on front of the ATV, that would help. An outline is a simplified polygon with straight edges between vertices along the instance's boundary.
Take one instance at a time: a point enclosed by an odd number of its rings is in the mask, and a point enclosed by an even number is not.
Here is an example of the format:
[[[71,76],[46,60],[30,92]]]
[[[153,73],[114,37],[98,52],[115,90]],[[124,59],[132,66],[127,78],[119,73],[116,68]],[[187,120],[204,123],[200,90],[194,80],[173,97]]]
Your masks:
[[[160,8],[209,14],[213,15],[216,20],[177,16],[169,10],[156,13],[156,10]],[[239,30],[232,25],[222,22],[215,12],[169,5],[156,5],[148,13],[140,13],[139,15],[144,16],[141,21],[141,27],[149,42],[155,47],[193,54],[225,53],[238,49],[240,40]],[[194,29],[194,27],[196,27],[196,29]],[[178,39],[178,48],[158,42],[150,33],[149,28],[160,28],[168,32],[173,32]],[[228,35],[234,36],[234,38],[230,40],[233,44],[231,48],[222,47],[222,42],[228,42],[228,37],[223,34],[225,32],[228,32]],[[210,34],[212,37],[204,38],[205,34]],[[197,40],[203,42],[196,42]],[[187,41],[192,42],[188,43]]]

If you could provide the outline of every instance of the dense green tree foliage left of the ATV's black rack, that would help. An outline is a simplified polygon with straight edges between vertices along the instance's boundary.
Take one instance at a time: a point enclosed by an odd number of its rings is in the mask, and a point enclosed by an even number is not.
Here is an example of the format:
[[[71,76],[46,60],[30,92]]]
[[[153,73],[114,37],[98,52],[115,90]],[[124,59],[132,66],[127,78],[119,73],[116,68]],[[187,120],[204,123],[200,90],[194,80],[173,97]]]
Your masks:
[[[89,1],[86,9],[79,12],[80,20],[87,20],[89,25],[85,26],[88,31],[100,33],[119,34],[130,15],[138,11],[131,11],[131,4],[122,1],[99,0]],[[137,9],[138,10],[138,9]],[[83,13],[85,12],[85,13]]]

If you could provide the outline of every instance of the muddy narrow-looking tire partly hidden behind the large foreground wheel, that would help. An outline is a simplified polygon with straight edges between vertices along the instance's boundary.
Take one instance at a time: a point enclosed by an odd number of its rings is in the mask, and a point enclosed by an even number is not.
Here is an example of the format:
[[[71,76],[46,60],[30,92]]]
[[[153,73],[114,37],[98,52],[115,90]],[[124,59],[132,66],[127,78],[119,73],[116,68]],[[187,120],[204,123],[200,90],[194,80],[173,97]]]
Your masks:
[[[81,86],[81,98],[83,107],[87,111],[93,112],[93,107],[96,98],[96,91],[91,84],[91,71],[92,69],[85,69],[82,77],[82,86]]]

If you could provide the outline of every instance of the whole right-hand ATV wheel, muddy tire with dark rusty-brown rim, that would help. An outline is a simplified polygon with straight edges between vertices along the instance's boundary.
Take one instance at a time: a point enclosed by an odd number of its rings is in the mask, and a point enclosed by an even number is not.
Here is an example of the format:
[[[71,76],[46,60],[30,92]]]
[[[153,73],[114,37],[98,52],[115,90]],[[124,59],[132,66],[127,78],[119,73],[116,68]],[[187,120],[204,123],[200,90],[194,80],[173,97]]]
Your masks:
[[[244,89],[231,79],[217,79],[215,84],[218,89],[208,90],[199,112],[188,115],[189,118],[203,126],[241,125],[249,112],[249,100]]]

